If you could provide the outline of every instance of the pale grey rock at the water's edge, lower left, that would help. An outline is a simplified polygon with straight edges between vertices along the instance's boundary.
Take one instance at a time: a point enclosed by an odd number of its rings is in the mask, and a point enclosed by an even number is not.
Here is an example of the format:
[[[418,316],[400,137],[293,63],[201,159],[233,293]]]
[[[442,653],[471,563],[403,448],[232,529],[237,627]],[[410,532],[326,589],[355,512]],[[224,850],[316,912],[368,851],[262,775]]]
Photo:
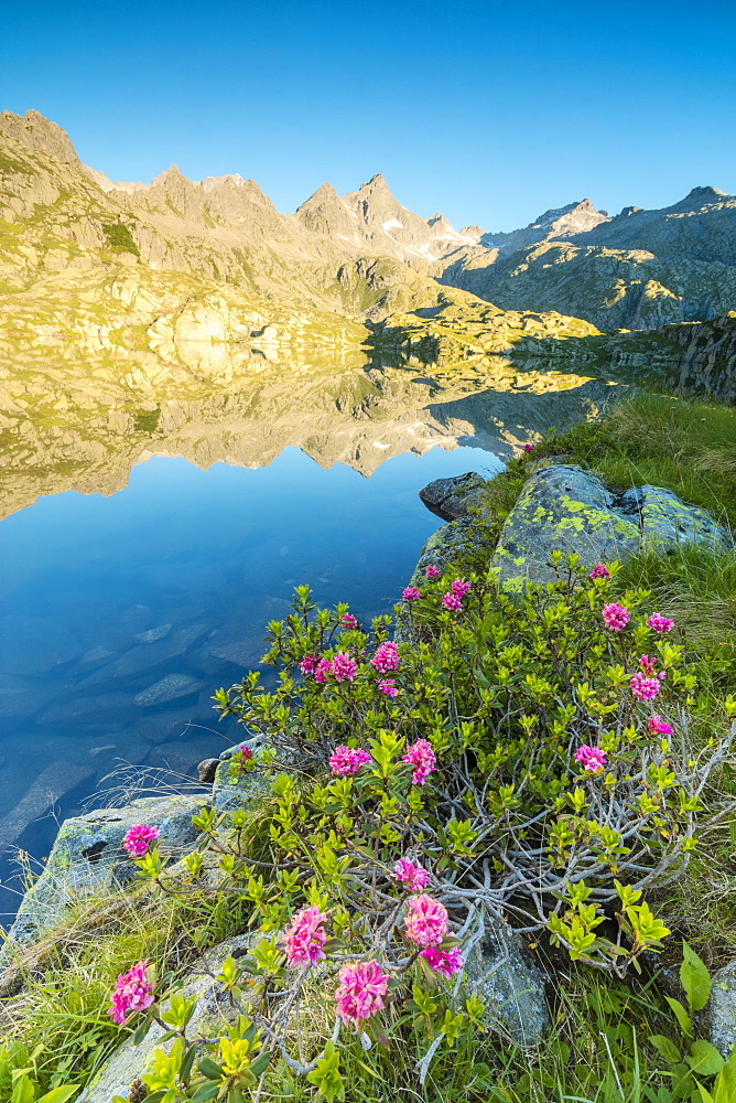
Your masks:
[[[208,794],[143,797],[122,808],[65,820],[43,874],[23,897],[8,932],[9,943],[0,950],[0,965],[12,960],[13,943],[40,938],[77,901],[134,880],[137,867],[121,846],[133,824],[158,827],[162,854],[175,858],[196,842],[192,816],[210,803]]]

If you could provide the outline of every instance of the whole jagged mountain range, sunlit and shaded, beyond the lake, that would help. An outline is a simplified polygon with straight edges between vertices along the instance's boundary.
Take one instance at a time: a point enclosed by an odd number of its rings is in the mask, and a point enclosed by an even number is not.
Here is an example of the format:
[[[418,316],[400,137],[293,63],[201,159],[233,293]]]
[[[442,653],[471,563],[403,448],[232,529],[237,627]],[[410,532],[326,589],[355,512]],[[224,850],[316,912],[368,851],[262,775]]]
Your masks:
[[[490,233],[420,217],[377,174],[282,214],[237,173],[195,182],[172,165],[116,183],[36,111],[0,114],[0,361],[14,393],[19,364],[83,360],[96,386],[144,392],[383,338],[430,358],[538,339],[560,355],[564,339],[735,308],[736,197],[713,188],[614,217],[586,199]]]

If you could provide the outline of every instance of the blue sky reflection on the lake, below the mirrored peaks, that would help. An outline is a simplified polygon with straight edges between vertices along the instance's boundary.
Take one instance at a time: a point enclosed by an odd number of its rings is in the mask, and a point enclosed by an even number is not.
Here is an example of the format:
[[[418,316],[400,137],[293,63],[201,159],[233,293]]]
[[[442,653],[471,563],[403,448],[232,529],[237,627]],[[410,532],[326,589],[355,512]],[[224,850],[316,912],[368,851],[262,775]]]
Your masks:
[[[416,492],[498,465],[477,448],[405,453],[370,479],[296,448],[256,470],[153,458],[110,497],[68,491],[3,521],[0,876],[8,847],[47,854],[51,790],[68,815],[120,759],[196,777],[232,741],[208,730],[212,693],[258,662],[293,587],[361,619],[390,611],[441,524]],[[134,700],[173,674],[185,696]]]

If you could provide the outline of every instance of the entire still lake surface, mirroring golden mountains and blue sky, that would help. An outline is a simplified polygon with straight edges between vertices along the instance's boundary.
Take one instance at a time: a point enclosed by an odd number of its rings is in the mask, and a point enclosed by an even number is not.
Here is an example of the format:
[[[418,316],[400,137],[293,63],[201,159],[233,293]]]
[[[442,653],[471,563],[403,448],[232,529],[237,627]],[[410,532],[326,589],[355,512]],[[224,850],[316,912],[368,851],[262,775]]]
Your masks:
[[[0,438],[3,882],[18,847],[47,854],[54,816],[78,811],[121,761],[195,780],[196,763],[237,738],[216,724],[212,694],[258,664],[295,585],[361,620],[389,612],[440,524],[420,488],[493,473],[494,450],[594,415],[607,393],[499,373],[291,370],[191,399],[83,406],[69,389],[11,410]],[[15,902],[0,889],[0,912]]]

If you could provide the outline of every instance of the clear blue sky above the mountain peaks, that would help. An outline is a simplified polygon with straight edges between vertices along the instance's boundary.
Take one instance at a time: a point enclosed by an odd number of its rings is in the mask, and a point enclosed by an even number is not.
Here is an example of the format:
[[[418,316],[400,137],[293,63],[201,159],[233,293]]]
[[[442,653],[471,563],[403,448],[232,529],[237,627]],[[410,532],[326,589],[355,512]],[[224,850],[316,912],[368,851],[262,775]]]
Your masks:
[[[0,0],[0,108],[113,180],[240,172],[281,211],[382,172],[455,225],[736,192],[736,4]]]

